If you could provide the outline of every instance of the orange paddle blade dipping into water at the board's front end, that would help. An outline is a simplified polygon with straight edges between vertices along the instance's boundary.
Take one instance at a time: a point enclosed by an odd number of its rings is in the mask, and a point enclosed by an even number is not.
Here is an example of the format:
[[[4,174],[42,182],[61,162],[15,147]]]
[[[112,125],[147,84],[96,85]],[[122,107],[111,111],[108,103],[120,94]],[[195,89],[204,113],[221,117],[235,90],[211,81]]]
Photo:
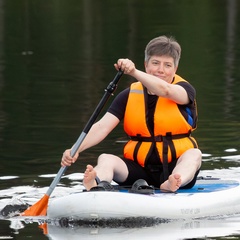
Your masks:
[[[49,196],[45,194],[38,202],[21,213],[21,216],[46,216],[48,199]]]

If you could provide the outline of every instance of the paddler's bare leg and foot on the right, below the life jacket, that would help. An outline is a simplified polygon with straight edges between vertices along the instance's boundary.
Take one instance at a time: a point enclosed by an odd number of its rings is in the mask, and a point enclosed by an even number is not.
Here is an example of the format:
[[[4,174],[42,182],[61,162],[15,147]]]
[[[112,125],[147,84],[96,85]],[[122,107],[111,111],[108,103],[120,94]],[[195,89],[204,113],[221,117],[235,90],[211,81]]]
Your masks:
[[[193,148],[187,150],[177,161],[172,174],[169,176],[160,189],[164,191],[175,192],[180,187],[187,185],[195,176],[202,162],[202,153],[199,149]]]

